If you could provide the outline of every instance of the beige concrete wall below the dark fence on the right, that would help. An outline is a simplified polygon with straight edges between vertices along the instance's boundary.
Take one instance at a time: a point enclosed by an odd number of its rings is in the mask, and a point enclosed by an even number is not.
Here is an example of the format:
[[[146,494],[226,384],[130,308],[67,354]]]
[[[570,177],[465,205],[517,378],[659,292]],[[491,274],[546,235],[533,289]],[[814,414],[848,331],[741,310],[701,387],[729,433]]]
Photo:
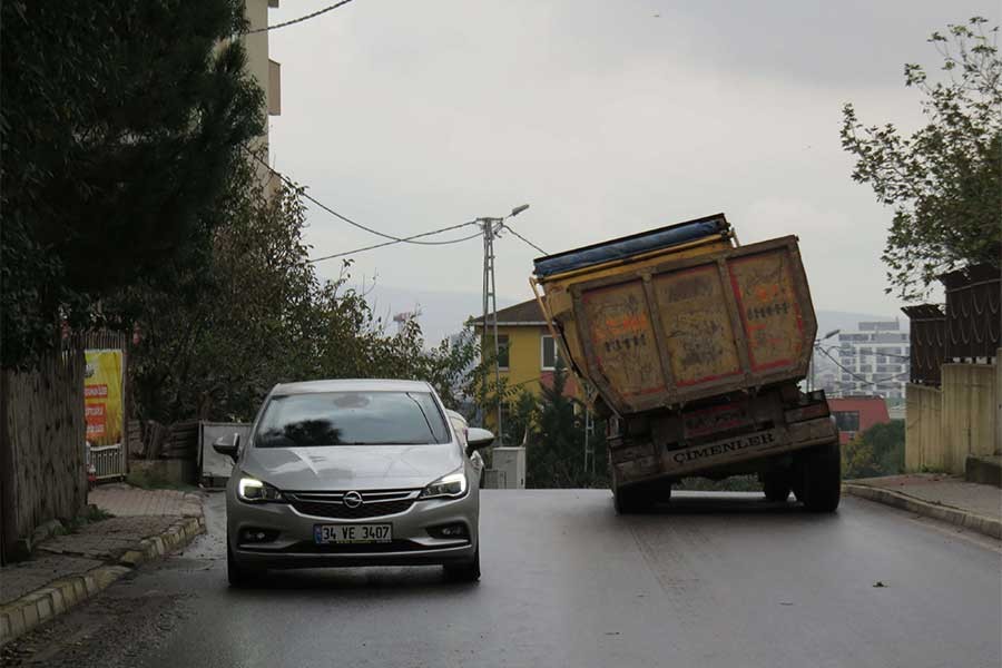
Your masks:
[[[1000,364],[944,364],[942,390],[910,385],[905,466],[963,473],[969,454],[1002,452]]]

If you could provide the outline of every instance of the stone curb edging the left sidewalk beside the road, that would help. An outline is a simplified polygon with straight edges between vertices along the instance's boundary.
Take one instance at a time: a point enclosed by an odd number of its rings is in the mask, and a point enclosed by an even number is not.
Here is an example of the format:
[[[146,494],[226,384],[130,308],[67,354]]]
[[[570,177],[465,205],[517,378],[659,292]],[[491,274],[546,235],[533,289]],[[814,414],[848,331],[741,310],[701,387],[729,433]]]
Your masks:
[[[0,607],[0,647],[96,596],[137,566],[187,546],[204,531],[202,517],[184,518],[164,533],[139,541],[138,549],[127,551],[117,564],[99,566],[81,574],[60,578]]]

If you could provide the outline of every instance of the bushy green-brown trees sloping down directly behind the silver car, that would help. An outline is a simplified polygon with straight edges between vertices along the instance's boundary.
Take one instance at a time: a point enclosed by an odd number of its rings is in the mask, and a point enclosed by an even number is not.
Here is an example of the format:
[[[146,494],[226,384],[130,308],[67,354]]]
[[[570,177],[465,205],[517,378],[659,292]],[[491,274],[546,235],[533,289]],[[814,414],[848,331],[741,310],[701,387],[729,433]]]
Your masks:
[[[130,381],[144,418],[249,420],[276,383],[338,377],[420,379],[459,405],[478,352],[472,332],[428,350],[416,321],[387,334],[347,287],[350,263],[322,283],[303,238],[302,190],[282,184],[266,196],[252,158],[235,165],[222,203],[203,264],[115,305],[139,314]]]

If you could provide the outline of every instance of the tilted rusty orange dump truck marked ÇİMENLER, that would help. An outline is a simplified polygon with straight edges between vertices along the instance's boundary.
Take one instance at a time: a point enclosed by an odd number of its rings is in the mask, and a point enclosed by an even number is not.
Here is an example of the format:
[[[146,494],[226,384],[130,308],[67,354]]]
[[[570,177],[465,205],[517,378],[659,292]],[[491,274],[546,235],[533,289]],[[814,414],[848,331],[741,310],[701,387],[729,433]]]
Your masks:
[[[740,245],[724,214],[534,261],[563,362],[607,419],[619,513],[685,478],[757,474],[831,512],[838,432],[803,392],[817,323],[796,236]]]

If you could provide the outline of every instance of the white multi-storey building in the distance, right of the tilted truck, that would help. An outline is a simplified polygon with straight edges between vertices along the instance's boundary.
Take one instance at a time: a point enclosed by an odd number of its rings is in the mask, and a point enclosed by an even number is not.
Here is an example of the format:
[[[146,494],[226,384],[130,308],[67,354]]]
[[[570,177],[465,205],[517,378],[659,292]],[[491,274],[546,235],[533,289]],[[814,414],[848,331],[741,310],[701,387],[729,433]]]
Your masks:
[[[829,396],[873,395],[901,404],[908,382],[910,350],[908,333],[898,321],[859,323],[857,331],[838,334],[837,346],[826,348],[837,365],[832,363],[819,374],[818,385]]]

